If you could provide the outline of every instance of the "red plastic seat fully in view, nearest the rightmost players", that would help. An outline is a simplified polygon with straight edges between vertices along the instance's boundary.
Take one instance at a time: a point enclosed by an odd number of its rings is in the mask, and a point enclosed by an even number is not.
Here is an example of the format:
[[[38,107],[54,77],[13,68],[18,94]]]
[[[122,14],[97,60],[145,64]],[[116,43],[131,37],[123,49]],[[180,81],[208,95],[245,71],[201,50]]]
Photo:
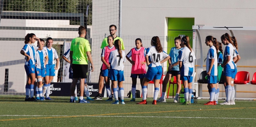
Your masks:
[[[250,74],[247,71],[239,71],[236,73],[234,84],[247,84],[250,82]]]

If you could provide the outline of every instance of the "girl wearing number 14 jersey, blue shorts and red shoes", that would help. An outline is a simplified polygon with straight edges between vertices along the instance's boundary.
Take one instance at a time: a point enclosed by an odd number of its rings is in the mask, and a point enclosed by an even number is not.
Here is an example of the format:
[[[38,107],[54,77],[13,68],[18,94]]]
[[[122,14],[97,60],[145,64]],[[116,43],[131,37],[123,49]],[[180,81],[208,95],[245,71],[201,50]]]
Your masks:
[[[142,82],[142,101],[137,104],[147,104],[147,93],[148,93],[148,83],[154,79],[155,90],[152,104],[156,105],[156,99],[159,92],[159,82],[163,74],[161,64],[170,59],[170,56],[163,51],[160,39],[158,36],[155,36],[151,39],[151,46],[147,49],[146,52],[146,62],[148,65],[148,71],[145,75],[145,78]],[[151,63],[149,62],[148,57],[151,58]],[[164,58],[162,61],[160,61]]]

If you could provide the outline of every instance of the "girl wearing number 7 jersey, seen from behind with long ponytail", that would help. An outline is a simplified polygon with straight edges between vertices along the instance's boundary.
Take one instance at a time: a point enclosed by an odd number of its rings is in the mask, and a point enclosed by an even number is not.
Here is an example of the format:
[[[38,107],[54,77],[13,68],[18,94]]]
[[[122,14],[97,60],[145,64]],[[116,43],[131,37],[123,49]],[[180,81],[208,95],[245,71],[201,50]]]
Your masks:
[[[125,62],[125,52],[121,49],[121,41],[116,40],[114,42],[114,46],[116,50],[111,51],[108,62],[110,64],[110,70],[108,72],[109,79],[111,80],[113,84],[113,93],[115,102],[112,104],[119,104],[118,101],[118,92],[117,92],[117,84],[119,87],[119,92],[121,95],[121,104],[124,103],[124,87],[123,87],[123,81],[124,81],[124,62]]]

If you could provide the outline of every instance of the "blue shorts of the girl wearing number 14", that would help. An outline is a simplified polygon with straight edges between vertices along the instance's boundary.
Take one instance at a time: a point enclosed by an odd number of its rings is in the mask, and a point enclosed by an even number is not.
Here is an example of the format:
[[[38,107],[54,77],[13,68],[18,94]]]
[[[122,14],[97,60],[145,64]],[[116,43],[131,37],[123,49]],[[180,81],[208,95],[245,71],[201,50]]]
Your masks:
[[[148,67],[148,71],[145,75],[145,78],[151,81],[153,79],[161,79],[162,73],[163,73],[162,66]]]

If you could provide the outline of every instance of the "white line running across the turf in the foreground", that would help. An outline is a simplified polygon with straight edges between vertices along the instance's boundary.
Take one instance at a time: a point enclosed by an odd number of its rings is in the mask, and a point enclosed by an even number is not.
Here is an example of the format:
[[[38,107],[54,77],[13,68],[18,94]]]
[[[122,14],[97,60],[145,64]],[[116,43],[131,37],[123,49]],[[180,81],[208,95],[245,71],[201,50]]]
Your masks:
[[[51,115],[0,115],[0,116],[51,116]],[[54,116],[52,116],[54,117]],[[79,116],[78,116],[79,117]],[[248,119],[256,120],[256,118],[227,118],[227,117],[179,117],[179,116],[80,116],[80,117],[141,117],[141,118],[198,118],[198,119]]]

